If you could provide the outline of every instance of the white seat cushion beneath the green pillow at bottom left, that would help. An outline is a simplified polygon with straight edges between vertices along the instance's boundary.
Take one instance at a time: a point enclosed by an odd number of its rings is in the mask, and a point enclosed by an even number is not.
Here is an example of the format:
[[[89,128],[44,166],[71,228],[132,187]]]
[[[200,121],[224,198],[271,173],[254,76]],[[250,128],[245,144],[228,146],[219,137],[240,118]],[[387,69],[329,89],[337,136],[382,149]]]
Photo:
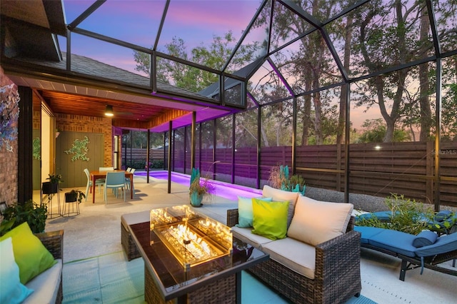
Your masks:
[[[36,275],[26,284],[27,288],[34,290],[34,293],[29,295],[24,303],[40,303],[40,304],[54,304],[56,303],[57,294],[59,293],[59,286],[62,273],[62,260],[56,259],[57,263],[44,272]]]

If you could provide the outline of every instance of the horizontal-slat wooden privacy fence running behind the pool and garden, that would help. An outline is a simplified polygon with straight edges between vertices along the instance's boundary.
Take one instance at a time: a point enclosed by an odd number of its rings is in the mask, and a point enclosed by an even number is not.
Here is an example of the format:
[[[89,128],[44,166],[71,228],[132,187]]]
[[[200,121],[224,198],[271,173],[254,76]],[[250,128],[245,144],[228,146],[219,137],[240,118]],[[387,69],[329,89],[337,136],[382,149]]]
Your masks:
[[[261,180],[267,181],[272,166],[291,166],[291,146],[263,147],[260,151]],[[440,204],[457,206],[457,143],[441,143],[439,176]],[[349,146],[349,191],[387,197],[403,194],[423,203],[434,202],[436,176],[433,142],[356,143]],[[162,154],[163,155],[163,154]],[[231,176],[232,149],[202,149],[196,153],[196,166],[202,171]],[[190,153],[175,151],[175,167],[190,166]],[[201,162],[199,163],[199,160]],[[238,181],[256,180],[257,149],[236,148],[233,166]],[[296,173],[305,178],[306,185],[344,191],[345,151],[341,145],[297,146]],[[252,186],[246,182],[246,186]]]

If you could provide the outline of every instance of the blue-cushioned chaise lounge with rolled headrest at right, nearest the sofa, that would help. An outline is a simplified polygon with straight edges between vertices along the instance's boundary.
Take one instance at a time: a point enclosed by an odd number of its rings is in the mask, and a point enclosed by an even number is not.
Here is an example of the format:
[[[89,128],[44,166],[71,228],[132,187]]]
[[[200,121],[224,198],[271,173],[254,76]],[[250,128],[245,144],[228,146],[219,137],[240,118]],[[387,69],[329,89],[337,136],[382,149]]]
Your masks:
[[[376,227],[355,226],[361,233],[361,247],[380,251],[401,258],[400,280],[405,280],[406,270],[421,267],[457,276],[457,270],[439,264],[457,258],[457,233],[438,236],[424,230],[418,235]]]

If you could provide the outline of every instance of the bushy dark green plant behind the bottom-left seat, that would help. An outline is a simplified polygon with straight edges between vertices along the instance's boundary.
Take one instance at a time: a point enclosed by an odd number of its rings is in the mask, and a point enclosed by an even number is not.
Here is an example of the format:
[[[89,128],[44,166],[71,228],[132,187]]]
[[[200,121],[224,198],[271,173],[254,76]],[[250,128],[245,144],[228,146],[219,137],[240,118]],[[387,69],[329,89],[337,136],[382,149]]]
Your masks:
[[[4,220],[7,221],[1,227],[1,233],[6,233],[8,230],[15,228],[21,223],[29,223],[30,230],[33,233],[44,232],[46,226],[46,218],[48,217],[48,208],[45,204],[36,204],[34,201],[29,200],[24,203],[14,203],[6,208],[3,213]],[[11,224],[11,222],[13,222]]]

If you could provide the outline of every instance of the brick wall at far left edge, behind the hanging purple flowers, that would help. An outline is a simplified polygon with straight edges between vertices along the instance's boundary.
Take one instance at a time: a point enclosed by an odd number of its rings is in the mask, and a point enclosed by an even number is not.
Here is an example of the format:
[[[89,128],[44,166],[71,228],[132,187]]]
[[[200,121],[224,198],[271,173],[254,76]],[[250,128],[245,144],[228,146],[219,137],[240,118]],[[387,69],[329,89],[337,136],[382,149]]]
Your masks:
[[[9,86],[13,82],[4,75],[3,69],[0,67],[0,87]],[[17,93],[17,86],[14,85],[14,94]],[[1,101],[6,98],[6,92],[0,93]],[[21,101],[19,101],[19,109]],[[6,201],[6,204],[11,205],[17,202],[17,178],[18,178],[18,143],[11,141],[11,152],[6,150],[5,145],[0,148],[0,201]]]

